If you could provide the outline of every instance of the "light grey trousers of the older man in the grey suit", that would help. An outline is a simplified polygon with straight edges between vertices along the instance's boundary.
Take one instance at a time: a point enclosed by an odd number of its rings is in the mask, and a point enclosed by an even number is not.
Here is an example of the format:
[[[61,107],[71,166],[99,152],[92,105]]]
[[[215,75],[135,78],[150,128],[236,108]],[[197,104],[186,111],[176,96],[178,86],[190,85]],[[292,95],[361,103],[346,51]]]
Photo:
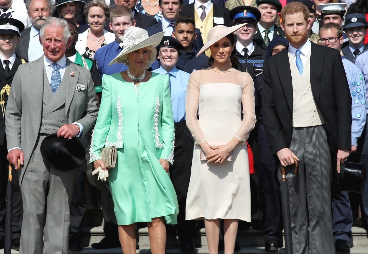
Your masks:
[[[46,136],[38,136],[20,179],[24,208],[21,254],[68,254],[69,206],[78,170],[62,171],[43,161],[40,144]]]

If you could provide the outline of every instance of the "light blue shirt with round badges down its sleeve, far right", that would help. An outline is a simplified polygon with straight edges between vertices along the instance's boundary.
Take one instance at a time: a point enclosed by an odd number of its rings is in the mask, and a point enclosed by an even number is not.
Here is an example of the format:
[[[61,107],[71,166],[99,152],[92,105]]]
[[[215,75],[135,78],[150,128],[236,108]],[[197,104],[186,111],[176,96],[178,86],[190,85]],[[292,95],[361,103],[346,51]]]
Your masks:
[[[362,135],[367,117],[365,111],[365,83],[362,72],[355,64],[343,58],[343,65],[351,95],[351,145],[357,146],[358,138]]]

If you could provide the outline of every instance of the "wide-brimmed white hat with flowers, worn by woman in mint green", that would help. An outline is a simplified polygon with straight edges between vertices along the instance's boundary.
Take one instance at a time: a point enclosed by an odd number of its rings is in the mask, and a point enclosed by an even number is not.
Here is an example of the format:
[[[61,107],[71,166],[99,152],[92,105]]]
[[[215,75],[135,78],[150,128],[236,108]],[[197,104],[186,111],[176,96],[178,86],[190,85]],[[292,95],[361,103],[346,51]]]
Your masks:
[[[145,47],[156,47],[158,44],[160,44],[164,33],[165,32],[159,32],[155,35],[148,36],[148,32],[143,28],[139,28],[137,26],[128,27],[123,36],[123,50],[121,50],[121,52],[109,63],[109,65],[123,62],[125,58],[121,58],[135,50],[143,49]]]

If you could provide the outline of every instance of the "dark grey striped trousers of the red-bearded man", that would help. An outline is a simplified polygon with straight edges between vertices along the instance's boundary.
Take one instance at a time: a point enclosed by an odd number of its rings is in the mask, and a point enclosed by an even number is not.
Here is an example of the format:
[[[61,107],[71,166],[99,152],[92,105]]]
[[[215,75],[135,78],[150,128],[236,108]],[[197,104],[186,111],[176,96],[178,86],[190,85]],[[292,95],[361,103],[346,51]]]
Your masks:
[[[293,128],[290,150],[299,172],[286,167],[293,253],[335,253],[331,218],[332,167],[325,125]],[[278,172],[281,181],[280,170]],[[309,228],[309,230],[308,230]]]

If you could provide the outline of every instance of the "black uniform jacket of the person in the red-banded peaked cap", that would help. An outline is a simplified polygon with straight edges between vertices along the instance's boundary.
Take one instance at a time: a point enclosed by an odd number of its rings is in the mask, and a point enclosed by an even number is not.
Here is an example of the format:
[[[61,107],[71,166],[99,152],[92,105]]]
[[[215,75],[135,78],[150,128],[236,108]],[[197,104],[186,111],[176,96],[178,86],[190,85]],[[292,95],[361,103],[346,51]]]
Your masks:
[[[241,68],[239,71],[248,72],[251,77],[255,79],[257,78],[257,74],[263,71],[263,61],[266,59],[266,50],[254,41],[253,45],[254,50],[248,58],[242,56],[238,51],[236,51],[234,57],[240,62]]]

